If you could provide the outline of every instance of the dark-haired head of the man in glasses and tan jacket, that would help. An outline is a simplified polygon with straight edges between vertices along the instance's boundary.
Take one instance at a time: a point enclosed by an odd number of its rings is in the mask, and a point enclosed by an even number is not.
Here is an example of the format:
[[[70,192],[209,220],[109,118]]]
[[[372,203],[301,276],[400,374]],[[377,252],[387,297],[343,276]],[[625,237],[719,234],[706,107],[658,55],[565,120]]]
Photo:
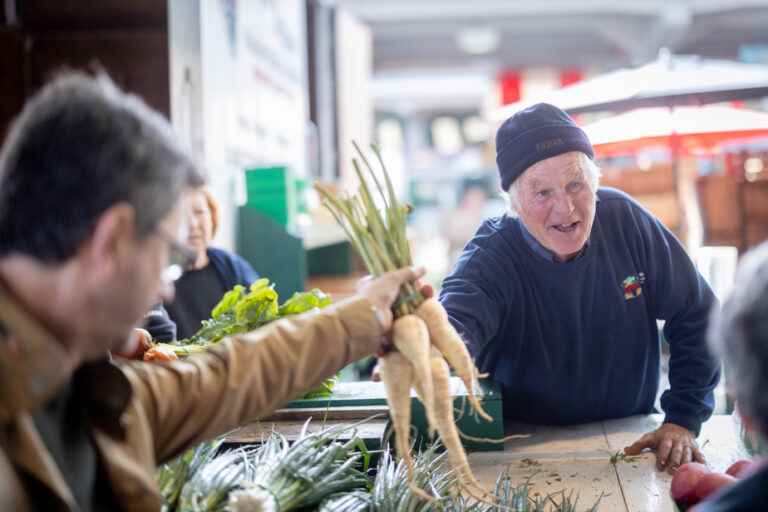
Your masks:
[[[172,296],[167,271],[188,254],[179,198],[201,183],[140,99],[103,75],[61,76],[0,154],[0,278],[75,360],[102,358]]]

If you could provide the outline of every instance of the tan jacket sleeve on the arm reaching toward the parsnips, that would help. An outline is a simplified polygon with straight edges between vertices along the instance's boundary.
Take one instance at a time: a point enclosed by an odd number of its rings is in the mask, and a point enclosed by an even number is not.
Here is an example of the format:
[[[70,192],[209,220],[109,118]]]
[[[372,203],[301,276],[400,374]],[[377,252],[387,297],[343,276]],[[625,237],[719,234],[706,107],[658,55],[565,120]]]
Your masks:
[[[381,335],[370,303],[354,298],[225,339],[183,361],[126,363],[123,371],[162,462],[270,414],[373,354]]]

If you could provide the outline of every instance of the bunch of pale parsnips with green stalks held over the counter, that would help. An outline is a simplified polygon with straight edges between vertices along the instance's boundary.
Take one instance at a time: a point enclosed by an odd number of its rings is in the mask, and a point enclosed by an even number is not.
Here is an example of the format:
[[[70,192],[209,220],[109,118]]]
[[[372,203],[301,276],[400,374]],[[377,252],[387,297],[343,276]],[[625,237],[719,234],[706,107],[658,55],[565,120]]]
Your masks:
[[[359,161],[352,160],[360,181],[357,192],[337,195],[321,184],[315,184],[315,188],[372,275],[411,266],[411,250],[406,237],[409,207],[397,200],[378,148],[371,146],[381,166],[384,186],[363,151],[357,144],[354,146],[359,156]],[[370,187],[366,175],[373,183]],[[377,200],[381,208],[377,206]],[[415,285],[402,287],[393,313],[395,350],[380,358],[379,369],[395,427],[398,455],[409,469],[412,468],[409,432],[410,390],[413,387],[424,404],[430,431],[436,429],[440,434],[462,490],[473,496],[484,495],[469,467],[454,424],[449,387],[448,365],[464,382],[470,404],[477,414],[488,421],[492,419],[475,395],[478,372],[466,345],[448,321],[442,305],[434,298],[425,299]]]

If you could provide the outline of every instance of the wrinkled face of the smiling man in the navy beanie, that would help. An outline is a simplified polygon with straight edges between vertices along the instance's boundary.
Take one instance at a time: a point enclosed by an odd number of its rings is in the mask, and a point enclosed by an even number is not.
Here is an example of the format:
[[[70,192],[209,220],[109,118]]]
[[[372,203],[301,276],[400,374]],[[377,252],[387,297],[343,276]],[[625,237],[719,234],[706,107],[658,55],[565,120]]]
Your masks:
[[[588,157],[572,151],[532,165],[518,178],[520,220],[538,242],[567,261],[584,247],[595,220]]]

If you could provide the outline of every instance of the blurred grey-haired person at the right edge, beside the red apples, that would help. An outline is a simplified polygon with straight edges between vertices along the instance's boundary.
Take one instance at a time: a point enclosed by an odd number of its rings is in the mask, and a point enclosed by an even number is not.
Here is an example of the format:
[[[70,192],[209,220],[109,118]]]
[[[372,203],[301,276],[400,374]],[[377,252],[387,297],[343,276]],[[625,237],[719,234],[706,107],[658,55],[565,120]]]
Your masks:
[[[710,329],[709,341],[723,358],[731,392],[742,417],[763,440],[768,439],[768,243],[742,260],[733,292]],[[696,512],[764,512],[768,510],[768,465]]]

